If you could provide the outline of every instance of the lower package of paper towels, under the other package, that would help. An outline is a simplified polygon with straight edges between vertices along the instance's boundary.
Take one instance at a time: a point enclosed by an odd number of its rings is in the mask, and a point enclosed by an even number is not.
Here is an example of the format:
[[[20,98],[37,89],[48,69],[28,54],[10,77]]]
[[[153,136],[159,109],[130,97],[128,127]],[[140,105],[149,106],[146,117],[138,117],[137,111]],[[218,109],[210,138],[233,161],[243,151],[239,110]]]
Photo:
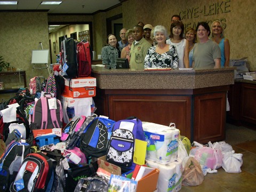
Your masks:
[[[180,158],[165,165],[150,160],[147,160],[146,164],[159,170],[157,192],[177,192],[181,189],[182,161]]]

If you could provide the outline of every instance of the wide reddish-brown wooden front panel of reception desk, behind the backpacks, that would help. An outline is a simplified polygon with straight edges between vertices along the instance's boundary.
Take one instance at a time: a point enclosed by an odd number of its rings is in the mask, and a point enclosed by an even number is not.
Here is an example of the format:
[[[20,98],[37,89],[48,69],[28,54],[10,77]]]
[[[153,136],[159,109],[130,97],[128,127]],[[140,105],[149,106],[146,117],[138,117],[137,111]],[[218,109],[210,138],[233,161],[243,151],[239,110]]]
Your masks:
[[[190,96],[109,95],[109,118],[118,121],[136,116],[141,121],[167,125],[175,123],[190,138]]]

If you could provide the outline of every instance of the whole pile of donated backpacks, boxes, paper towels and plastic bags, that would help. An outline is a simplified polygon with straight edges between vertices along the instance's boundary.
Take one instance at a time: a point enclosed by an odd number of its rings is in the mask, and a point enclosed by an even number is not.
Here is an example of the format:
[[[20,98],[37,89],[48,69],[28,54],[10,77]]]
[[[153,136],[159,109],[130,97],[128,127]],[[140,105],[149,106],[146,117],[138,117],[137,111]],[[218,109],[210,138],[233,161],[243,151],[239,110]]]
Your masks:
[[[61,47],[47,79],[31,78],[0,103],[0,191],[175,192],[221,166],[241,172],[241,154],[225,142],[191,148],[174,123],[95,114],[89,43],[68,38]]]

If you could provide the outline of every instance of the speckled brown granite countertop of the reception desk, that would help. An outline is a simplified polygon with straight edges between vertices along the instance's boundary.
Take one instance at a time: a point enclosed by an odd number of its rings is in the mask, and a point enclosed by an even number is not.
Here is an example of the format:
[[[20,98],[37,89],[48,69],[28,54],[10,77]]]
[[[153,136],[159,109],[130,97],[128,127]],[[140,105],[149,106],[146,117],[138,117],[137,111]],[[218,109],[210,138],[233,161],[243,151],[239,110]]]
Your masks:
[[[234,84],[234,69],[149,71],[94,66],[92,76],[100,89],[199,89]]]

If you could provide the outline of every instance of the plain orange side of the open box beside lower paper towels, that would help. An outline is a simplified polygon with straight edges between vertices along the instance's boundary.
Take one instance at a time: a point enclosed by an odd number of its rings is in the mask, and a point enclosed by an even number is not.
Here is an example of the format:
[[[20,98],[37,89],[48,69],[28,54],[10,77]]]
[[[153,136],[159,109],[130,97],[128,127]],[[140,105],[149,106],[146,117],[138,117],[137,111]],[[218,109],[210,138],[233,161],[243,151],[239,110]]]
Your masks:
[[[145,191],[155,191],[157,186],[157,180],[159,176],[159,170],[155,169],[154,171],[147,174],[145,177],[138,181],[137,192]]]

